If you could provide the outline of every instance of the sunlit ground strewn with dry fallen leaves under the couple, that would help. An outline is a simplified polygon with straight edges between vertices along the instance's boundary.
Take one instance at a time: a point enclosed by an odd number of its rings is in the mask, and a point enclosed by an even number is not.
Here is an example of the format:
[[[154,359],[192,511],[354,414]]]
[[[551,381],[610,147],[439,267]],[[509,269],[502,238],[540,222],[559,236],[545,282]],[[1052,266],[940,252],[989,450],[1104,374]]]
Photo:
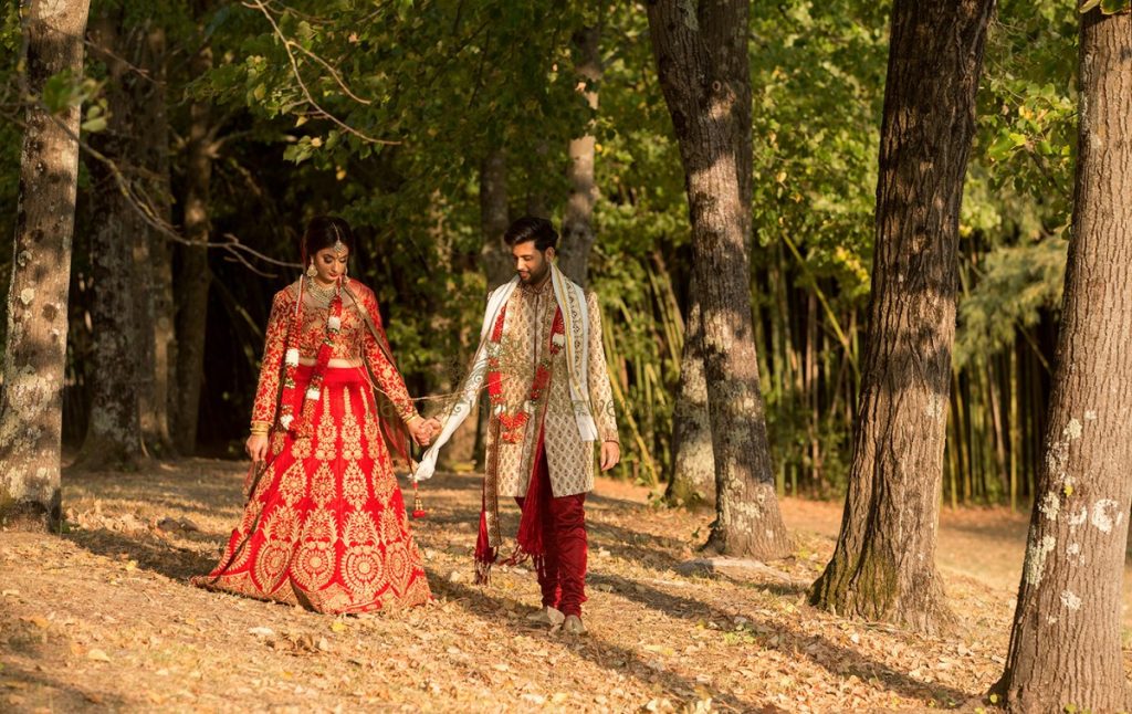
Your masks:
[[[0,711],[970,711],[1002,668],[1026,537],[1022,515],[944,511],[940,562],[962,627],[920,637],[803,603],[837,504],[783,501],[786,562],[681,575],[711,514],[601,481],[591,633],[573,637],[526,623],[533,574],[470,584],[474,475],[424,485],[415,534],[436,604],[361,618],[188,585],[235,522],[239,464],[65,481],[67,533],[0,533]]]

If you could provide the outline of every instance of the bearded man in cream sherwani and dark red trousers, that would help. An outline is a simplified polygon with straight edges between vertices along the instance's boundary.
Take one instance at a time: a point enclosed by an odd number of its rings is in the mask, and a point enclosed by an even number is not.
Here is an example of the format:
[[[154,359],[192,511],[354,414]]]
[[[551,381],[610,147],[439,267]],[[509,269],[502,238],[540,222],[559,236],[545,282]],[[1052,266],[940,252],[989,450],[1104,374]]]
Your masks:
[[[525,216],[504,242],[515,277],[488,296],[480,346],[460,403],[414,478],[431,476],[438,449],[468,416],[487,381],[491,414],[480,534],[478,582],[496,562],[530,557],[542,608],[532,620],[585,633],[585,494],[593,490],[593,442],[601,470],[617,465],[614,413],[597,296],[554,263],[558,233],[546,218]],[[522,510],[516,548],[500,558],[499,498]]]

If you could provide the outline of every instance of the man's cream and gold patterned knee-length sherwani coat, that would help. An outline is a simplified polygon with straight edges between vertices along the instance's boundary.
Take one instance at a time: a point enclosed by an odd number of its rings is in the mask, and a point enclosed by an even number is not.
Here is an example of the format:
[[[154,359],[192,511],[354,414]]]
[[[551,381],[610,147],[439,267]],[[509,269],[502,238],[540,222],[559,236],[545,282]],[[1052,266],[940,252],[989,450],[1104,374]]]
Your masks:
[[[521,285],[507,300],[507,320],[500,341],[500,372],[504,376],[503,395],[508,412],[521,408],[530,397],[535,367],[549,352],[556,309],[549,279],[540,289]],[[566,321],[566,338],[574,341],[575,350],[584,350],[589,360],[589,385],[583,385],[583,389],[588,390],[598,438],[601,441],[617,441],[617,420],[601,337],[601,311],[593,292],[585,293],[585,309],[590,321],[589,344],[582,344],[580,328],[569,334],[569,320]],[[578,432],[569,393],[566,350],[559,351],[551,360],[550,386],[535,410],[535,418],[526,423],[522,441],[508,444],[497,440],[496,430],[489,430],[488,453],[498,448],[497,478],[500,497],[526,494],[540,431],[543,435],[554,496],[573,496],[593,490],[594,445],[592,441],[583,441]]]

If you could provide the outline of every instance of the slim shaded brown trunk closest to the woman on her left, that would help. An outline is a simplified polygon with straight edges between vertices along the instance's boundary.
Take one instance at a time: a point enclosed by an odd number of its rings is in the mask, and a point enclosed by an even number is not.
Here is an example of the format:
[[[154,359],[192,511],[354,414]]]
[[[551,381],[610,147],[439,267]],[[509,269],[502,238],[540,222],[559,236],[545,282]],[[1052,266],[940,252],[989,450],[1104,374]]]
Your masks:
[[[192,74],[212,68],[212,50],[201,48],[192,59]],[[212,182],[212,104],[195,101],[189,109],[190,127],[186,160],[185,238],[178,275],[180,306],[177,313],[177,430],[173,441],[183,455],[197,444],[200,389],[204,385],[205,330],[208,317],[208,201]]]

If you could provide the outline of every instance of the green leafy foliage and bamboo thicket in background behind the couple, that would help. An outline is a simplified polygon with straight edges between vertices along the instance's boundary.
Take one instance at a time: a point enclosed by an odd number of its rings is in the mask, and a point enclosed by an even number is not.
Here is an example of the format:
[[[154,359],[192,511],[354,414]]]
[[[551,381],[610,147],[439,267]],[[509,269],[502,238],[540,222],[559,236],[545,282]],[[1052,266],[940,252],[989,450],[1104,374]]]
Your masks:
[[[451,389],[468,356],[481,309],[468,295],[487,289],[488,161],[505,157],[497,188],[507,214],[535,210],[560,222],[566,146],[591,132],[599,199],[589,279],[607,318],[625,447],[618,471],[663,493],[675,463],[691,252],[684,179],[643,9],[169,5],[158,16],[149,3],[95,1],[92,18],[117,12],[168,37],[172,225],[185,224],[194,182],[194,107],[208,106],[214,246],[234,236],[259,256],[293,263],[305,218],[348,217],[366,247],[354,269],[378,291],[414,394]],[[951,506],[1021,508],[1035,492],[1072,186],[1078,40],[1077,15],[1064,5],[1001,2],[989,33],[961,221],[941,494]],[[867,329],[889,7],[834,0],[757,3],[752,12],[749,281],[777,488],[834,498],[844,489]],[[5,14],[0,71],[12,87],[19,18],[12,6]],[[585,85],[595,110],[573,71],[581,27],[599,36],[600,78]],[[211,51],[206,66],[192,61],[200,46]],[[89,137],[100,130],[111,77],[96,54],[87,66],[97,80],[88,104],[103,107],[87,110]],[[0,124],[0,177],[17,173],[19,131]],[[101,328],[89,312],[92,243],[84,238],[98,220],[96,197],[92,160],[83,161],[65,394],[65,433],[76,445],[89,419],[89,355]],[[12,205],[16,186],[2,181],[0,200]],[[10,234],[11,221],[0,216],[0,229]],[[180,269],[190,251],[182,243],[173,251]],[[7,283],[9,266],[0,267]],[[215,249],[207,272],[207,377],[195,448],[234,455],[269,298],[294,268]],[[174,281],[172,290],[185,285]]]

